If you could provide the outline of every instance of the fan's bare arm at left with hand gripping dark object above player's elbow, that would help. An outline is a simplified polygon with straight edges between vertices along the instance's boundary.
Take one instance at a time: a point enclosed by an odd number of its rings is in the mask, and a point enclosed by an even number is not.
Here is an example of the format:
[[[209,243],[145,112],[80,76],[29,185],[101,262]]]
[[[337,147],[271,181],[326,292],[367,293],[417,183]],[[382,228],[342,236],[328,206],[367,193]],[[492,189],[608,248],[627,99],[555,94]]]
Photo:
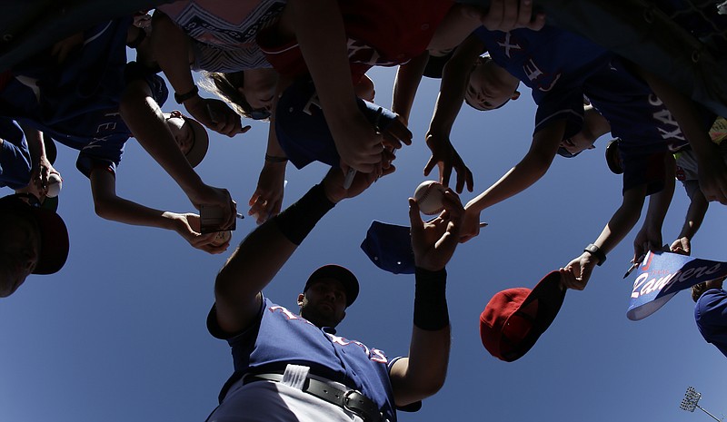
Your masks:
[[[196,208],[209,205],[224,211],[223,228],[234,223],[236,207],[226,189],[204,184],[174,141],[164,114],[142,80],[129,83],[119,106],[124,123],[144,150],[164,168]]]

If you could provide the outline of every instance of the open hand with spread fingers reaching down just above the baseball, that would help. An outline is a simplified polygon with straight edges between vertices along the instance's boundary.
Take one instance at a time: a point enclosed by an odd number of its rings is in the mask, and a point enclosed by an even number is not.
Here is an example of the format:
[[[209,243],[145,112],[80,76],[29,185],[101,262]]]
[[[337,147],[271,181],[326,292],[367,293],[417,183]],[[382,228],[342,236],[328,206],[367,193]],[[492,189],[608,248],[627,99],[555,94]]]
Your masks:
[[[426,135],[426,145],[432,151],[432,157],[424,166],[424,176],[428,176],[436,165],[439,167],[439,182],[444,186],[449,186],[452,169],[454,169],[457,172],[457,193],[462,193],[465,182],[467,191],[473,190],[473,174],[464,164],[460,154],[454,149],[448,136],[438,136],[433,132],[429,132]]]

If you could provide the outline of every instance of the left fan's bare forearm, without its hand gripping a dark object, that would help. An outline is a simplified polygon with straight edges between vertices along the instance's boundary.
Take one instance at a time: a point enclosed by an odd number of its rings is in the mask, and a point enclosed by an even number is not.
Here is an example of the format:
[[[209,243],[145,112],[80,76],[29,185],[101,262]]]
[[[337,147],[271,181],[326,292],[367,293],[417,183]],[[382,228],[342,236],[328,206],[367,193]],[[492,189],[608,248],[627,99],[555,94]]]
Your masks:
[[[145,92],[145,86],[145,83],[135,81],[126,88],[119,107],[124,123],[136,141],[179,184],[187,196],[194,196],[196,191],[204,188],[204,182],[194,172],[174,141],[174,135],[164,122],[162,110]]]

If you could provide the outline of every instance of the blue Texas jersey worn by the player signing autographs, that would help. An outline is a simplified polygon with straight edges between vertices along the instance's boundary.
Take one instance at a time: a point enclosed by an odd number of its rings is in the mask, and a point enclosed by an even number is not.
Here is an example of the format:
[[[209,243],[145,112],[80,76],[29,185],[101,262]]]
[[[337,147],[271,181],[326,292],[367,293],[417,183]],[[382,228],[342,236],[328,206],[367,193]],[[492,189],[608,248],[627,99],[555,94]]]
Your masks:
[[[307,365],[314,373],[357,388],[379,406],[385,417],[392,421],[396,418],[389,381],[389,368],[395,360],[386,358],[382,350],[339,337],[334,329],[319,329],[265,298],[256,323],[249,329],[233,337],[225,336],[217,326],[214,307],[207,318],[207,328],[214,337],[227,339],[232,347],[233,379],[287,363]]]

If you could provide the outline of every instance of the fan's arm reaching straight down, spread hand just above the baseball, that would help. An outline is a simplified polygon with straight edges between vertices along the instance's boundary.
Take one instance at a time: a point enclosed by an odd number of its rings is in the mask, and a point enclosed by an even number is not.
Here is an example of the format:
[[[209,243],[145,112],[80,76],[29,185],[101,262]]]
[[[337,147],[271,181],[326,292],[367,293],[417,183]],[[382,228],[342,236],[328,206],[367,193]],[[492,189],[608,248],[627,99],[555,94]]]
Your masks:
[[[449,136],[457,114],[462,108],[469,74],[483,48],[483,43],[476,36],[470,35],[457,47],[444,65],[432,122],[429,123],[429,130],[426,133],[426,144],[432,151],[432,157],[424,166],[424,175],[429,175],[437,165],[440,182],[449,186],[449,179],[454,169],[457,172],[458,192],[463,190],[465,182],[467,190],[473,190],[473,175],[454,150]]]

